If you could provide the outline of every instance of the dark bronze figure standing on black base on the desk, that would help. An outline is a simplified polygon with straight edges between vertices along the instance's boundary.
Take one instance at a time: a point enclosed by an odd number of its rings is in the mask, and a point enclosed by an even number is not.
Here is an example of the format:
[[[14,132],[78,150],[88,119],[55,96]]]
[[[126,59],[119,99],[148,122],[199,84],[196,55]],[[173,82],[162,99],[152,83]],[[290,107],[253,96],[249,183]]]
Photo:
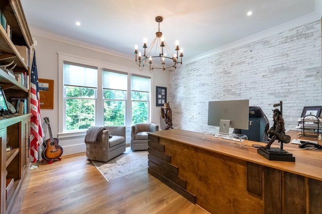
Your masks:
[[[291,137],[285,134],[285,123],[284,119],[282,117],[282,113],[279,109],[273,110],[273,126],[267,131],[270,141],[266,146],[264,146],[265,149],[270,149],[272,143],[275,140],[278,140],[278,142],[281,143],[281,149],[283,149],[283,143],[289,143],[291,140]]]

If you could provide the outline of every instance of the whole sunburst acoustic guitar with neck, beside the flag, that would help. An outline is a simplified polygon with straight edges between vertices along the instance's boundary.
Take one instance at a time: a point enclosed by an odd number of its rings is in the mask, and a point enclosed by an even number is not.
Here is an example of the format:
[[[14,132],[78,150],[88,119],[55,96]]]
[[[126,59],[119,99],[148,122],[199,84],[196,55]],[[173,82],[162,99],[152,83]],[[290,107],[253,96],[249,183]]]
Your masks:
[[[44,120],[47,123],[50,138],[43,142],[45,149],[42,151],[41,156],[52,163],[53,159],[58,158],[60,160],[59,157],[62,155],[62,147],[58,145],[59,140],[52,137],[49,118],[45,117]]]

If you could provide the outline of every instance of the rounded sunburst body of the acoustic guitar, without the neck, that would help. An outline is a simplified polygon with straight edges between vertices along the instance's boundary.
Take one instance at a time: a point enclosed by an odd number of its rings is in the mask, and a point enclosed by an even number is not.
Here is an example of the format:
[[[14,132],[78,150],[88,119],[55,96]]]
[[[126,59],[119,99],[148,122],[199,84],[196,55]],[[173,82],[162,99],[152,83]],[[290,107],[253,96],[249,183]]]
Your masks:
[[[53,141],[47,139],[43,142],[43,146],[45,149],[42,151],[41,156],[45,160],[53,160],[62,155],[62,147],[58,145],[59,140],[57,138],[53,138]]]

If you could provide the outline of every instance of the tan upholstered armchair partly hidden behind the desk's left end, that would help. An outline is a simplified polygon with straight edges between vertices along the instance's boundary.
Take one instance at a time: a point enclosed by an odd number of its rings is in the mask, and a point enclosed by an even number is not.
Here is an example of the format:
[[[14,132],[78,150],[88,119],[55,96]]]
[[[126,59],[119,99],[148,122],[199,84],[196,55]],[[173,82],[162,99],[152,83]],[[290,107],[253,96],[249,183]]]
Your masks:
[[[155,123],[136,123],[131,129],[131,149],[147,150],[147,132],[155,132],[159,126]]]

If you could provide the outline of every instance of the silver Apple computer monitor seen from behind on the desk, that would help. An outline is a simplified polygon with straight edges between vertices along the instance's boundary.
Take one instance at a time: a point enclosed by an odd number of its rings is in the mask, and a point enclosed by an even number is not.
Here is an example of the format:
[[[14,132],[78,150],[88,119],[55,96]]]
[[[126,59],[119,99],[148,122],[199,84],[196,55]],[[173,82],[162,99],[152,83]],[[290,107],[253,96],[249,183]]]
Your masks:
[[[249,100],[209,101],[208,125],[219,126],[220,134],[229,134],[229,128],[248,130]]]

